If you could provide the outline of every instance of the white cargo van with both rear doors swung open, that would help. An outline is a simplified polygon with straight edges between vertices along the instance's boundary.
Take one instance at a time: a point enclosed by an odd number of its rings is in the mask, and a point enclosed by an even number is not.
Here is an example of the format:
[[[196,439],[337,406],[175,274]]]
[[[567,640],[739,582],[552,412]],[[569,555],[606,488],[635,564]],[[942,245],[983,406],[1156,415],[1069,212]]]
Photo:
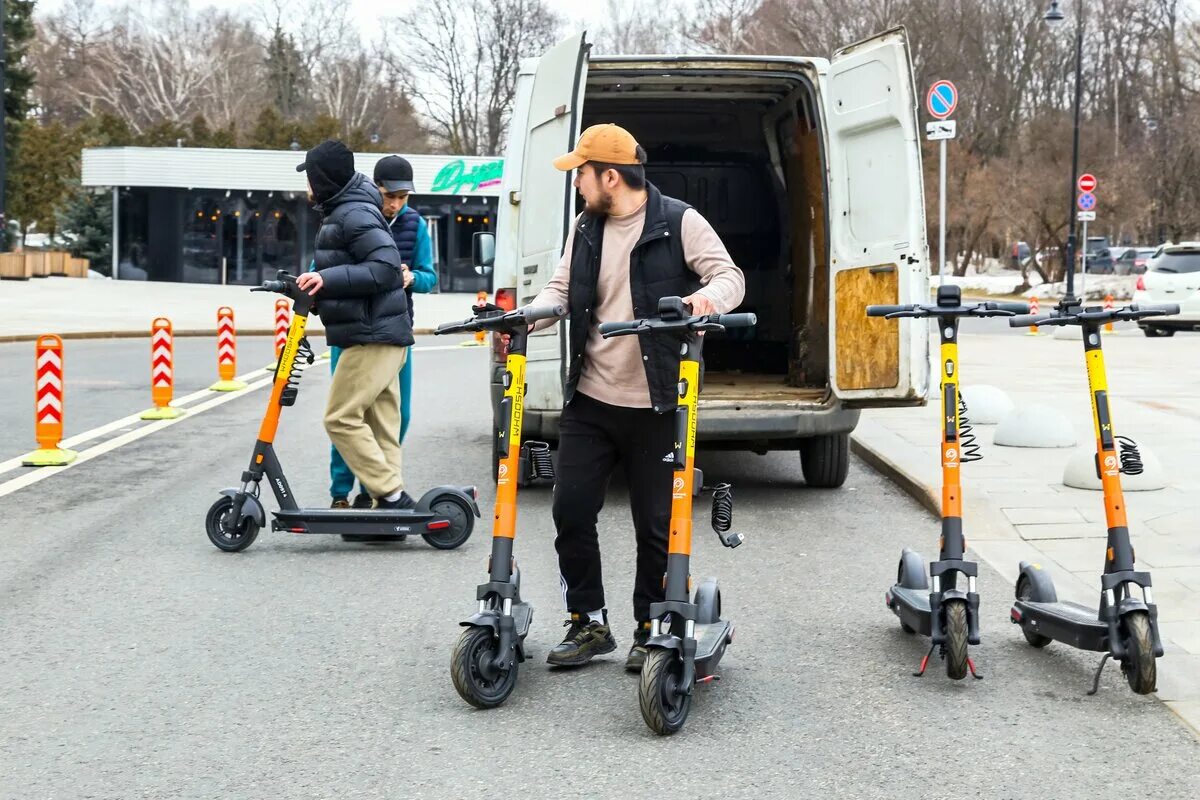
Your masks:
[[[925,324],[864,312],[929,301],[904,29],[832,61],[588,55],[581,34],[518,74],[497,219],[497,302],[520,306],[538,294],[581,207],[572,175],[551,160],[589,125],[622,125],[649,154],[647,178],[720,234],[746,278],[738,311],[758,315],[749,336],[716,336],[704,348],[700,447],[798,450],[810,486],[840,486],[858,409],[920,405],[929,383]],[[558,437],[566,324],[529,339],[524,439]],[[491,369],[498,403],[499,353]]]

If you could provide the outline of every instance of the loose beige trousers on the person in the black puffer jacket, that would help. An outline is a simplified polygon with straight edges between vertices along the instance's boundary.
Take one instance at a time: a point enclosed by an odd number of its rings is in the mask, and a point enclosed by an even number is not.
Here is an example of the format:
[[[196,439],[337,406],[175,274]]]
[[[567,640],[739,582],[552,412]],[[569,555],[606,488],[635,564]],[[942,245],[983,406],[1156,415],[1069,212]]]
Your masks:
[[[404,488],[400,455],[400,381],[408,348],[344,348],[325,407],[325,432],[359,482],[378,499]]]

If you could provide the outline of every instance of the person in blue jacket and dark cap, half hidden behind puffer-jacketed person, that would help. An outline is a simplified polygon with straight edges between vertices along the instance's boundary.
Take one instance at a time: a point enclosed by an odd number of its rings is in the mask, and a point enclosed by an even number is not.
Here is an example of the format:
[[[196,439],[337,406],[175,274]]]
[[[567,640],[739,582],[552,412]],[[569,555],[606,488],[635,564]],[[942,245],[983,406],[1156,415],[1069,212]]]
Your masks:
[[[428,294],[438,283],[438,273],[433,270],[433,241],[430,239],[425,219],[416,209],[408,205],[408,196],[415,190],[413,185],[413,166],[400,156],[380,158],[374,168],[374,182],[383,194],[383,216],[391,229],[391,236],[400,249],[401,269],[404,276],[404,293],[408,295],[409,319],[413,315],[413,293]],[[330,371],[337,369],[341,348],[330,348]],[[413,419],[413,353],[400,371],[400,443],[404,444],[404,433]],[[350,491],[354,488],[354,474],[337,447],[330,447],[329,493],[334,498],[334,509],[352,507]],[[371,495],[359,486],[353,507],[370,509]]]

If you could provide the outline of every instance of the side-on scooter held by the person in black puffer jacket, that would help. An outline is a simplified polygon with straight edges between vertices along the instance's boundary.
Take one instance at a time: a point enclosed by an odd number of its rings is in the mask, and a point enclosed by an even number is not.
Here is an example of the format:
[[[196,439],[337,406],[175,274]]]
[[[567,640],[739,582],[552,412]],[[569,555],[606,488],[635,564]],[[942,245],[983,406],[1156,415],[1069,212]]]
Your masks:
[[[313,362],[312,348],[305,338],[308,314],[314,300],[296,285],[295,277],[281,271],[278,279],[266,281],[251,291],[275,291],[292,300],[292,326],[288,339],[275,368],[271,398],[258,431],[258,440],[251,455],[250,468],[241,474],[239,488],[222,489],[221,499],[212,504],[205,518],[209,540],[227,553],[236,553],[250,547],[260,528],[266,525],[266,513],[259,500],[259,485],[266,477],[280,505],[272,512],[271,530],[290,534],[341,534],[366,535],[373,540],[403,541],[409,534],[419,534],[438,549],[454,549],[470,537],[479,516],[474,486],[439,486],[430,489],[416,501],[414,509],[302,509],[296,503],[292,487],[283,475],[283,467],[275,455],[275,433],[280,425],[280,411],[293,405],[300,386],[304,367],[299,361]]]

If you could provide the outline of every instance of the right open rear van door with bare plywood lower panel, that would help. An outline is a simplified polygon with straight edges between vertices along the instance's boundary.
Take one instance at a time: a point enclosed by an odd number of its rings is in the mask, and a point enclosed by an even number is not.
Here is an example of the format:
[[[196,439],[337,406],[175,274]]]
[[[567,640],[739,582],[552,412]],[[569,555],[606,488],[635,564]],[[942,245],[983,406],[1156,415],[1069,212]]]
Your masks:
[[[838,50],[823,95],[830,384],[848,407],[919,405],[929,383],[926,323],[865,312],[871,303],[929,302],[917,96],[905,30]]]

